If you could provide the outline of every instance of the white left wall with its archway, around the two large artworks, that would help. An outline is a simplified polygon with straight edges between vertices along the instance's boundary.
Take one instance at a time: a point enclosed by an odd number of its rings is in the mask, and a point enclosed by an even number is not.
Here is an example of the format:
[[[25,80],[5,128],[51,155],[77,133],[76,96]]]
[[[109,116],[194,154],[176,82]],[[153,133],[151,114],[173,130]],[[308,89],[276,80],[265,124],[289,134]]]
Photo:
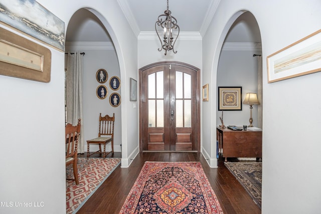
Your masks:
[[[62,21],[66,28],[78,9],[88,1],[38,0]],[[137,109],[129,108],[129,77],[137,77],[137,39],[116,1],[93,1],[90,7],[113,40],[121,77],[121,139],[126,148],[122,164],[138,146]],[[32,39],[31,39],[32,40]],[[45,47],[48,47],[44,45]],[[0,170],[0,201],[43,202],[42,207],[4,207],[1,213],[65,213],[66,181],[64,150],[64,57],[50,48],[51,81],[40,83],[0,76],[0,142],[3,154]],[[133,139],[127,142],[128,139]],[[124,151],[125,150],[125,151]],[[124,161],[123,161],[124,160]]]

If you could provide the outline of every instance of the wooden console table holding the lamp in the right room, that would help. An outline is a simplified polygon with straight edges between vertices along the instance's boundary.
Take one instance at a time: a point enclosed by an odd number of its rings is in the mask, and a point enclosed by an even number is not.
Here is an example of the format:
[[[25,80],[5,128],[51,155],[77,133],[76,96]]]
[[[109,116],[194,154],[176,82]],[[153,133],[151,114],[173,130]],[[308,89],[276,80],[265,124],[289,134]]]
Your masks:
[[[217,127],[219,152],[225,157],[262,157],[262,131],[234,131]]]

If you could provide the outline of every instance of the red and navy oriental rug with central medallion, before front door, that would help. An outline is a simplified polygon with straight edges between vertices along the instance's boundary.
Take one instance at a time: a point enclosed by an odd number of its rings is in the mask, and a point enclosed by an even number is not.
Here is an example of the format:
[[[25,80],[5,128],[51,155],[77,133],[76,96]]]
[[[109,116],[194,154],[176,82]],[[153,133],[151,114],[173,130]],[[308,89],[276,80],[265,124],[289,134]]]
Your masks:
[[[223,211],[200,162],[146,161],[119,213]]]

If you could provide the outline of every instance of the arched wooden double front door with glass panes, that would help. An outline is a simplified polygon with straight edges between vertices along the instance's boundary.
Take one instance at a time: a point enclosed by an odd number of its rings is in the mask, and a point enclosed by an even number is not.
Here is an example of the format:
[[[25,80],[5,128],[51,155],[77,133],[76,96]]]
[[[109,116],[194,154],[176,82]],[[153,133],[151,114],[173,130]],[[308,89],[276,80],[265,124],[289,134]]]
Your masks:
[[[139,69],[140,151],[199,151],[199,76],[179,62]]]

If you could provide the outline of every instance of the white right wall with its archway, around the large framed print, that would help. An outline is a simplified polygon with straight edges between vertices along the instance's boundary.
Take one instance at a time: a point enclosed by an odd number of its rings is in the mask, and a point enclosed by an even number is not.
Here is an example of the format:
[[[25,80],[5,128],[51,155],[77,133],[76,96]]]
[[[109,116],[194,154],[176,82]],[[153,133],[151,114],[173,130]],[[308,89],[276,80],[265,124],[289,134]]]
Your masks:
[[[228,29],[242,10],[257,20],[263,57],[263,177],[262,213],[318,213],[321,204],[321,73],[267,83],[266,57],[319,30],[321,2],[221,1],[203,40],[203,79],[215,85],[219,51]],[[203,126],[215,127],[217,95],[203,105]],[[215,121],[215,122],[211,122]],[[205,140],[206,139],[206,140]],[[203,131],[204,147],[215,133]],[[214,145],[214,144],[213,144]],[[215,149],[214,149],[215,148]]]

